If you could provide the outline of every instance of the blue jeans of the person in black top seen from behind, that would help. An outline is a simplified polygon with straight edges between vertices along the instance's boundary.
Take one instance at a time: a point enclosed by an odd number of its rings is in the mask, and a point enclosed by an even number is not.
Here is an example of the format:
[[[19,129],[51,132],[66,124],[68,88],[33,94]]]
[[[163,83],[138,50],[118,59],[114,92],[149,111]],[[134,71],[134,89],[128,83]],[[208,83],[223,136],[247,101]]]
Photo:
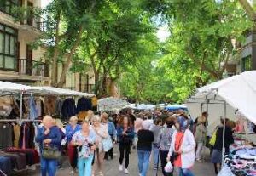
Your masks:
[[[151,151],[137,150],[139,173],[146,176]]]

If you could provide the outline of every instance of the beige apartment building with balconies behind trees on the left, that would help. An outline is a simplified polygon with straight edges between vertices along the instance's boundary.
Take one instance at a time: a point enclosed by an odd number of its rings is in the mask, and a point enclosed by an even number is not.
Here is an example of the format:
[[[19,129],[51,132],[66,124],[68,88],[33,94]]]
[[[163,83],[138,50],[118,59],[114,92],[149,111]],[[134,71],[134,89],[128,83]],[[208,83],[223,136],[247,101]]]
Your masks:
[[[0,80],[28,85],[50,85],[50,65],[44,60],[45,48],[32,49],[44,30],[44,21],[32,15],[17,21],[15,7],[41,7],[44,0],[0,0]],[[58,68],[61,75],[62,65]],[[93,92],[94,74],[91,69],[67,73],[65,88]]]

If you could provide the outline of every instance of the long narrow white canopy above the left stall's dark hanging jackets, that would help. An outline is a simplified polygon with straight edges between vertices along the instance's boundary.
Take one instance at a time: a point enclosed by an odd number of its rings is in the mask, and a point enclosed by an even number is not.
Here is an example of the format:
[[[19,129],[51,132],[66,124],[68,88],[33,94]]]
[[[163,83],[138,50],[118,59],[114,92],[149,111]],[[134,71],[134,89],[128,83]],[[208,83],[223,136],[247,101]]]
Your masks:
[[[53,88],[53,87],[31,87],[29,90],[31,93],[40,93],[40,94],[49,94],[49,95],[67,95],[67,96],[84,96],[84,97],[93,97],[94,94],[82,93],[66,88]]]

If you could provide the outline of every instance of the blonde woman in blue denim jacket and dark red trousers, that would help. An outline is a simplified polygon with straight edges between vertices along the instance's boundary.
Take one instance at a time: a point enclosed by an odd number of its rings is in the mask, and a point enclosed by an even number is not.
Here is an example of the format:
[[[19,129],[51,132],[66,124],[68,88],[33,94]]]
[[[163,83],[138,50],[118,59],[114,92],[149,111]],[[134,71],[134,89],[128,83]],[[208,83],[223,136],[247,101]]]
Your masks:
[[[71,140],[73,138],[73,134],[78,132],[81,129],[81,126],[78,124],[78,117],[72,116],[69,119],[69,124],[66,127],[66,136],[67,136],[67,154],[69,158],[69,162],[73,170],[71,173],[75,172],[75,169],[78,165],[78,152],[76,147],[71,144]]]

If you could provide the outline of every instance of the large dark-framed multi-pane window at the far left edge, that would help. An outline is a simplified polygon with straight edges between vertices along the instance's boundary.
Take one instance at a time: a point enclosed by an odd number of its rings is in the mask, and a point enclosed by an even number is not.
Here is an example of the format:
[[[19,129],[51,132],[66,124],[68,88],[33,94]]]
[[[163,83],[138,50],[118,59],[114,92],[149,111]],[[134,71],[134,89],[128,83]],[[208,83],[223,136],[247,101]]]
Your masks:
[[[15,70],[17,31],[0,24],[0,69]]]

